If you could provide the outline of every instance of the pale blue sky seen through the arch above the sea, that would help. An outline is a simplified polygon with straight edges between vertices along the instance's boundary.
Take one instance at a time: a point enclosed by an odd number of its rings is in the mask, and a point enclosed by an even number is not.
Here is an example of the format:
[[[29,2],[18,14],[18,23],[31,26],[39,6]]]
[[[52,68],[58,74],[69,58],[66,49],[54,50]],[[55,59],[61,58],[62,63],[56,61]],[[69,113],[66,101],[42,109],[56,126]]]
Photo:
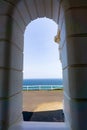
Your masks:
[[[57,28],[57,24],[47,18],[38,18],[26,27],[24,34],[24,79],[62,77],[59,45],[54,42]]]

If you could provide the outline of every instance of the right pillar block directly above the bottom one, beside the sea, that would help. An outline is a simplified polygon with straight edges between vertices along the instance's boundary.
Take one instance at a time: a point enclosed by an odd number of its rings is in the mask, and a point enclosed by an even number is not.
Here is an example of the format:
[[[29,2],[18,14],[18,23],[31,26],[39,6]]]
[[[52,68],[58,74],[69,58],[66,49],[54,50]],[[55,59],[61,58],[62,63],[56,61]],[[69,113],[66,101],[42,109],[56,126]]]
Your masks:
[[[87,99],[87,68],[67,68],[64,77],[64,90],[68,96]]]

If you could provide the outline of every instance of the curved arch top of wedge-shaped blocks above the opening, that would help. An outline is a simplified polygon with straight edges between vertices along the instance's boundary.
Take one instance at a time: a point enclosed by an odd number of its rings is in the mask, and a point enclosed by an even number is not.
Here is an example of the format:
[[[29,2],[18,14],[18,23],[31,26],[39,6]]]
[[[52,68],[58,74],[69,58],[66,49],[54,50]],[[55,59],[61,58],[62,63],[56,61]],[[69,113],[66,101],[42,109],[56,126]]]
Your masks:
[[[58,23],[60,0],[5,0],[4,13],[12,16],[23,27],[30,21],[47,17]],[[0,11],[0,12],[3,12]]]

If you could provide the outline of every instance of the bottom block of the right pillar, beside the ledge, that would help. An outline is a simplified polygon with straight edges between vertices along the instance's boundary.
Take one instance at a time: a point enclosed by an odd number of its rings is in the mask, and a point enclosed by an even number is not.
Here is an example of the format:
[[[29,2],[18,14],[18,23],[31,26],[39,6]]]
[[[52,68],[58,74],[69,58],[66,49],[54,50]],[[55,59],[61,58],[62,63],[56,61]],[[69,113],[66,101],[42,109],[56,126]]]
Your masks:
[[[70,130],[87,130],[87,101],[71,99],[65,95],[64,106]]]

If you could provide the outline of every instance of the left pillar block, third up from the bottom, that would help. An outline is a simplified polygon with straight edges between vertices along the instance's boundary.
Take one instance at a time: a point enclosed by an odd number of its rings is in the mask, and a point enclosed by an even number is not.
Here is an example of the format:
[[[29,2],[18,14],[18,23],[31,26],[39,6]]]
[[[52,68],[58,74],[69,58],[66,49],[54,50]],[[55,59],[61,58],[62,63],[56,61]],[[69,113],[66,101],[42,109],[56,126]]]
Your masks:
[[[0,67],[22,70],[23,53],[14,45],[8,42],[0,42]]]

